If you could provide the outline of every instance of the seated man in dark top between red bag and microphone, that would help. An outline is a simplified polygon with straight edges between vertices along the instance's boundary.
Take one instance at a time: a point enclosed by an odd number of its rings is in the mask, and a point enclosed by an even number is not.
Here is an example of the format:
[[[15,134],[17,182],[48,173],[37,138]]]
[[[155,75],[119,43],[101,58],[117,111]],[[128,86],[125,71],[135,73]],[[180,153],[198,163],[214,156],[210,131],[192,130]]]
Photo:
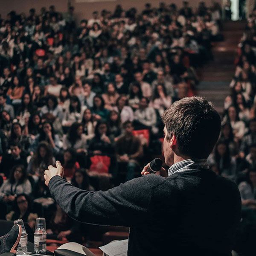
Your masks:
[[[123,128],[123,136],[116,141],[117,183],[133,179],[140,166],[140,158],[143,157],[143,147],[140,139],[132,133],[132,123],[124,122]]]

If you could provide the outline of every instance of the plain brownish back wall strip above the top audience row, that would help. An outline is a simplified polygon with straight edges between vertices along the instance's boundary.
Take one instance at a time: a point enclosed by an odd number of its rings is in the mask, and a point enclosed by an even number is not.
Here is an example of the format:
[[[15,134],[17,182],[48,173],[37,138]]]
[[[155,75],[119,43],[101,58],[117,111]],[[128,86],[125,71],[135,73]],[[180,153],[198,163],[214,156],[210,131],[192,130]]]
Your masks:
[[[198,6],[201,0],[188,0],[190,6]],[[217,0],[221,2],[221,0]],[[113,11],[116,4],[121,4],[124,9],[136,7],[139,11],[143,9],[145,3],[151,3],[152,6],[159,6],[160,2],[167,4],[175,3],[177,6],[182,5],[182,0],[70,0],[71,5],[75,7],[76,20],[79,21],[83,18],[90,18],[93,11],[107,9]],[[86,3],[91,2],[91,3]],[[208,5],[211,5],[212,0],[204,0]],[[0,14],[2,18],[6,18],[6,15],[14,10],[17,13],[24,12],[28,14],[30,8],[35,8],[37,12],[40,12],[41,7],[48,7],[55,5],[55,9],[58,12],[67,11],[68,0],[0,0]]]

